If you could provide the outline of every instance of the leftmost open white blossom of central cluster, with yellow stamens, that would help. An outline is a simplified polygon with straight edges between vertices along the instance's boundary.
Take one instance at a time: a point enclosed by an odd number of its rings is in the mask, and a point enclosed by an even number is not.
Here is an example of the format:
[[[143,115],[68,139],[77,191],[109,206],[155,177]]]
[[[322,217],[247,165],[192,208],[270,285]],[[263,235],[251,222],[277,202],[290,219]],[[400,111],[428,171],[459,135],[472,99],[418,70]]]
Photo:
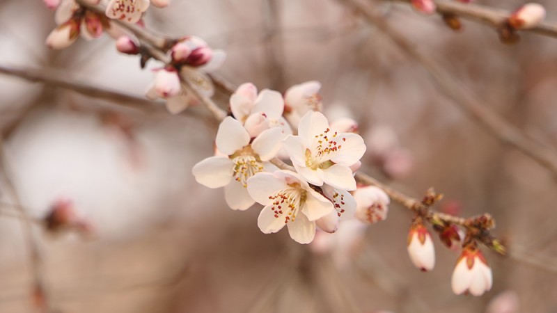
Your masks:
[[[216,142],[224,155],[197,163],[192,170],[196,181],[209,188],[224,187],[230,208],[248,209],[255,201],[246,191],[247,181],[263,170],[276,170],[267,161],[281,148],[281,130],[267,129],[251,141],[242,123],[228,116],[219,126]]]

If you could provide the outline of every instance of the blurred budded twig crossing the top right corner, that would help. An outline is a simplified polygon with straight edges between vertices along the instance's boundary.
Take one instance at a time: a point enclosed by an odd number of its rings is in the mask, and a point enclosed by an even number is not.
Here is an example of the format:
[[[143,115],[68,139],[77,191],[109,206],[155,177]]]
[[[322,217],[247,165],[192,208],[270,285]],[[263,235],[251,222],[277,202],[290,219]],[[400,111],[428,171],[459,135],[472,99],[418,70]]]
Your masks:
[[[410,4],[409,0],[387,1]],[[469,19],[473,22],[487,24],[489,26],[492,26],[494,29],[499,28],[501,24],[508,20],[510,15],[512,15],[512,13],[507,10],[490,8],[488,6],[480,6],[473,3],[462,3],[458,1],[448,0],[434,0],[434,3],[437,8],[437,13],[441,15],[456,15],[457,17]],[[549,37],[557,38],[557,23],[542,22],[538,26],[534,26],[531,29],[521,29],[521,31],[528,31],[531,33],[537,33],[539,35],[546,35]]]

